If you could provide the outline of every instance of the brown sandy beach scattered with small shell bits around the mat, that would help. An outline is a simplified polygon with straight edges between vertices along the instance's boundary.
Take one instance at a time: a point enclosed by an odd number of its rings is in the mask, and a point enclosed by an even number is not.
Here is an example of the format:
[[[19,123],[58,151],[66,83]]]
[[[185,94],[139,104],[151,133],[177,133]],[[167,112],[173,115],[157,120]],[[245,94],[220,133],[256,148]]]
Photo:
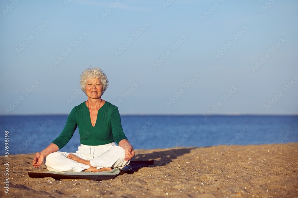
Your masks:
[[[298,143],[136,150],[153,166],[113,180],[30,178],[34,154],[1,158],[0,197],[298,197]],[[9,194],[4,159],[9,160]]]

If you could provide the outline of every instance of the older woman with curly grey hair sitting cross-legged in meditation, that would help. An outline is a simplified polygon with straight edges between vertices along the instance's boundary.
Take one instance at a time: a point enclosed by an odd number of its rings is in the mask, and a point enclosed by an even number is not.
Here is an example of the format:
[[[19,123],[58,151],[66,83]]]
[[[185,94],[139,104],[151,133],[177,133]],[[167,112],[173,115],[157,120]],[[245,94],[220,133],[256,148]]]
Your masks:
[[[118,108],[101,99],[108,87],[105,73],[99,68],[87,68],[80,83],[88,100],[72,109],[59,137],[35,154],[34,167],[44,161],[48,170],[57,172],[110,171],[128,165],[135,155],[123,132]],[[58,151],[69,142],[77,126],[81,143],[78,151]]]

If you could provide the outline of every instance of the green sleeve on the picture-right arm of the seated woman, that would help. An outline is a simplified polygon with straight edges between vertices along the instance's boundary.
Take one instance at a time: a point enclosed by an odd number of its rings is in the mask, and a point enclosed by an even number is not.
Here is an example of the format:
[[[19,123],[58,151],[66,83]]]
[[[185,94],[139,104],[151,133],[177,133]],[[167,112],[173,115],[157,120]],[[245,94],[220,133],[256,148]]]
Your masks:
[[[118,110],[118,107],[116,106],[113,109],[112,115],[111,115],[111,128],[112,128],[113,138],[117,144],[119,144],[119,142],[123,139],[127,140],[127,137],[125,136],[121,126],[119,110]]]

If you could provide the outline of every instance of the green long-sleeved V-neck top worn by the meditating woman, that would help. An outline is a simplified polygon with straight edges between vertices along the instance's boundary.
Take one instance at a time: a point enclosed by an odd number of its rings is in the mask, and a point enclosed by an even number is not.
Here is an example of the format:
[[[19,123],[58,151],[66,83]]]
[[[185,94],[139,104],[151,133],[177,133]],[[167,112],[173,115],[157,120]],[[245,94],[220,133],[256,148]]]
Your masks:
[[[77,126],[79,127],[80,143],[84,145],[105,145],[114,141],[119,144],[120,140],[127,140],[121,126],[118,107],[107,101],[98,110],[94,126],[91,124],[89,109],[85,102],[74,107],[67,118],[63,131],[52,143],[59,149],[63,148],[72,138]]]

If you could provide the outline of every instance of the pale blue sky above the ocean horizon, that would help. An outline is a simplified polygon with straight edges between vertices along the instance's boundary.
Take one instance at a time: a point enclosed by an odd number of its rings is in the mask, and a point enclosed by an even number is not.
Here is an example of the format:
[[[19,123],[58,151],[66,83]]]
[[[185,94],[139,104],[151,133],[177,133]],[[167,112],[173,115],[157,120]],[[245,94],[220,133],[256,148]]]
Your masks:
[[[90,65],[107,74],[102,98],[122,115],[298,113],[297,1],[0,8],[1,115],[68,114],[87,99],[79,78]]]

